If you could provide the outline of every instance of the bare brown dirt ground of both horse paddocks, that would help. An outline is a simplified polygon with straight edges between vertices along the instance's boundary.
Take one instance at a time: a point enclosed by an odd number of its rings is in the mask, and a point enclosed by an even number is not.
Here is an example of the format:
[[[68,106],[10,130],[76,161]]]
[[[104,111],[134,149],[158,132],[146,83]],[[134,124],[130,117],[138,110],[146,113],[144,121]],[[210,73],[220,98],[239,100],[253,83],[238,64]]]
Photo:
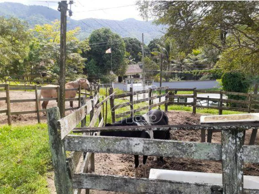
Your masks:
[[[0,97],[5,97],[4,92],[0,92]],[[11,99],[30,99],[35,98],[34,92],[24,91],[12,91],[10,93]],[[55,101],[50,101],[48,107],[56,106]],[[74,107],[77,105],[75,103]],[[4,101],[0,101],[0,110],[6,108]],[[33,110],[35,108],[34,102],[26,103],[12,103],[12,111],[25,111]],[[69,108],[69,102],[66,103],[66,108]],[[67,112],[68,114],[69,112]],[[181,111],[170,111],[168,112],[169,124],[199,124],[201,114],[195,114]],[[41,117],[42,122],[46,122],[46,117]],[[12,122],[14,125],[17,124],[35,124],[37,123],[36,114],[26,114],[20,116],[12,116]],[[7,116],[0,114],[0,124],[7,123]],[[246,131],[245,144],[249,143],[252,130]],[[170,136],[172,140],[181,141],[201,141],[200,131],[184,131],[177,130],[171,131]],[[221,133],[213,133],[213,143],[221,142]],[[255,141],[255,145],[259,145],[259,133]],[[148,157],[147,159],[147,176],[149,176],[150,168],[158,169],[169,169],[179,171],[196,171],[196,172],[210,172],[210,173],[221,173],[221,161],[210,161],[210,160],[193,160],[186,158],[164,158],[164,162],[153,161],[154,157]],[[140,161],[140,175],[142,177],[142,156]],[[95,154],[95,173],[96,174],[109,174],[109,175],[121,175],[121,176],[134,176],[134,156],[125,154]],[[259,176],[259,165],[256,164],[245,164],[244,175]],[[53,184],[53,173],[50,173],[47,179],[51,194],[55,194],[55,186]],[[84,192],[82,192],[84,193]],[[91,194],[115,194],[114,192],[108,191],[97,191],[91,190]]]

